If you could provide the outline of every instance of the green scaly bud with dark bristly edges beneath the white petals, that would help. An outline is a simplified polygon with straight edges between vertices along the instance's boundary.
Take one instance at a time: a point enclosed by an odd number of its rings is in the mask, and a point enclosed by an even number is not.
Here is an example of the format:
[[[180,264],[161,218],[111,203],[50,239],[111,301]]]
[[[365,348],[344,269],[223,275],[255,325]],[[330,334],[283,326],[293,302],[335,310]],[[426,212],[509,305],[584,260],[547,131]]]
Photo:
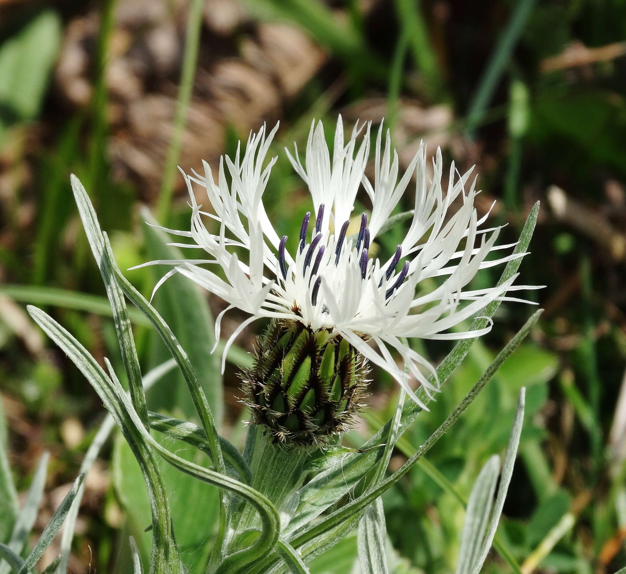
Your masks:
[[[364,357],[331,331],[274,320],[244,372],[253,422],[277,441],[321,444],[346,431],[366,396]]]

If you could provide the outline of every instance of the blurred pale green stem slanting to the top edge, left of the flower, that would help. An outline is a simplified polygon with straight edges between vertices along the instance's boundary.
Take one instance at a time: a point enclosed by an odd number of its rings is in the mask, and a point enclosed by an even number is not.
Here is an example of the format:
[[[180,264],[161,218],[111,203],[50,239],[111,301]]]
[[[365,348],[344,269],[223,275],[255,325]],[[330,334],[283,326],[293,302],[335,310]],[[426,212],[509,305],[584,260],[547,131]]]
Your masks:
[[[187,123],[187,112],[192,97],[193,79],[195,78],[196,64],[198,61],[203,4],[202,0],[193,0],[187,19],[187,39],[185,41],[182,71],[180,73],[180,88],[178,89],[172,140],[170,140],[170,147],[167,151],[161,189],[156,203],[156,213],[161,222],[167,221],[170,203],[172,202],[176,166],[178,164],[178,158],[180,157],[183,131]]]

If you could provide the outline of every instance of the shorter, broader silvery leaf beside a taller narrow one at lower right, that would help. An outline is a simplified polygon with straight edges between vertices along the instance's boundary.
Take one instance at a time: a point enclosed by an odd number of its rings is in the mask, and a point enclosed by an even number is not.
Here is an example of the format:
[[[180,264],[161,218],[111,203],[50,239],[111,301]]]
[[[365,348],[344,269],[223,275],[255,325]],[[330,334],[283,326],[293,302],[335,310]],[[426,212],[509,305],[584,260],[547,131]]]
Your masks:
[[[480,471],[469,496],[456,574],[470,574],[483,549],[499,473],[500,458],[494,454]]]

